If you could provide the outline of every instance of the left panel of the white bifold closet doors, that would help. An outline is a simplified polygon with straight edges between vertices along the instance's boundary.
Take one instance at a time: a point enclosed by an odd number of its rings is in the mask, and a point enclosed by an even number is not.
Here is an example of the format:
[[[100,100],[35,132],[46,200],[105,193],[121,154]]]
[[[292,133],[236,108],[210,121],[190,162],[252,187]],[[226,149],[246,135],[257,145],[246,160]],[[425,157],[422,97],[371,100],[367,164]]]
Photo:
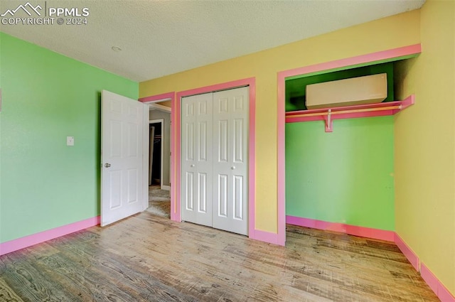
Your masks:
[[[182,98],[181,217],[212,226],[213,95]]]

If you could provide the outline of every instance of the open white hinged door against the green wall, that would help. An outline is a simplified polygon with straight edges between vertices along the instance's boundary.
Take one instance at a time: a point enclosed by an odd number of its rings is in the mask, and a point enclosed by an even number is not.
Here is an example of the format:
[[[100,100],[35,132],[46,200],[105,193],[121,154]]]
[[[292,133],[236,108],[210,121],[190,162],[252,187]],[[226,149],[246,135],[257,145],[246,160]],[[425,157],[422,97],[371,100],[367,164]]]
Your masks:
[[[146,106],[105,90],[101,98],[101,226],[105,226],[144,210]]]

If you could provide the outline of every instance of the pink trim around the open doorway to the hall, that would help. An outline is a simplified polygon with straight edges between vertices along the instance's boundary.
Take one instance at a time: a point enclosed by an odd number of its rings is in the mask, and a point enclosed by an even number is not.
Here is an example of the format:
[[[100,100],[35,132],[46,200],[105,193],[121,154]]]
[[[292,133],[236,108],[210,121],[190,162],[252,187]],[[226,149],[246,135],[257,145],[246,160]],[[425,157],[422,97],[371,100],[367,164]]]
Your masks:
[[[143,103],[153,103],[153,102],[158,102],[163,99],[171,99],[171,146],[170,150],[171,153],[173,154],[175,152],[174,146],[176,146],[176,126],[175,126],[175,121],[176,121],[176,92],[166,92],[162,93],[161,95],[151,95],[149,97],[141,97],[139,99],[139,102]],[[175,162],[175,157],[171,156],[171,167],[175,167],[176,162]],[[173,168],[171,168],[171,175],[169,175],[169,182],[171,184],[171,220],[177,220],[176,217],[176,186],[172,185],[175,183],[174,179],[175,173],[173,173]]]

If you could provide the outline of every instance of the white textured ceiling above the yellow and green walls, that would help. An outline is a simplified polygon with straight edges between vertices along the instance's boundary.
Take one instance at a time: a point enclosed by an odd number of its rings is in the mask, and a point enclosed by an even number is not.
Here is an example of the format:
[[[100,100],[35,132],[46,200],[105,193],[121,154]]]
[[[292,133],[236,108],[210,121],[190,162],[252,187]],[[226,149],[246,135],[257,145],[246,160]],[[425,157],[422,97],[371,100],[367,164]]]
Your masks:
[[[0,25],[0,31],[70,58],[144,80],[170,75],[358,23],[419,9],[424,0],[28,0],[87,7],[87,25]],[[23,1],[0,1],[0,14]],[[18,11],[16,16],[26,17]],[[115,52],[112,46],[122,48]]]

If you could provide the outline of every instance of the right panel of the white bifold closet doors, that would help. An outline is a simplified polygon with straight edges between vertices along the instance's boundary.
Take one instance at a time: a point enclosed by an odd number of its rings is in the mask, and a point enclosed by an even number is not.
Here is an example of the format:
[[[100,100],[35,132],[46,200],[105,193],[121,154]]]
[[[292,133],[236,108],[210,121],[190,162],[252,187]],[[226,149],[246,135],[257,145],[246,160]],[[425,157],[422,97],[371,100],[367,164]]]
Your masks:
[[[213,227],[248,232],[249,87],[213,93]]]

